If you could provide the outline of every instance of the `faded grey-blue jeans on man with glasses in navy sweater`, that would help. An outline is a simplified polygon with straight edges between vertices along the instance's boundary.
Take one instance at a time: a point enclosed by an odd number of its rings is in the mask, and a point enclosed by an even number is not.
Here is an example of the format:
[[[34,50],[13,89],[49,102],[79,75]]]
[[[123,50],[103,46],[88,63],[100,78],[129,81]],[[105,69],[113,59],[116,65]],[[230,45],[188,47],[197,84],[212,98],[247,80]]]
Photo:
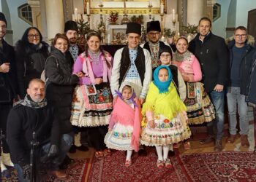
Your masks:
[[[236,135],[236,111],[238,108],[240,135],[247,135],[249,132],[248,107],[245,102],[245,95],[240,94],[240,87],[228,87],[227,108],[230,124],[230,135]]]

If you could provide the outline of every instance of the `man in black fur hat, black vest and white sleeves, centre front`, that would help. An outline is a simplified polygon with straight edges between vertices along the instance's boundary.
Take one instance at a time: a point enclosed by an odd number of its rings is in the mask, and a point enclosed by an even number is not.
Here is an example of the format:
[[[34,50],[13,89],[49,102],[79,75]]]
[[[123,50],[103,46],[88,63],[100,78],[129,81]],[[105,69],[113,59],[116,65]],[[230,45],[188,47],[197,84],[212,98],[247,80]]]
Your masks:
[[[110,87],[113,94],[113,105],[116,103],[117,95],[115,90],[119,90],[124,82],[132,82],[136,85],[134,89],[140,104],[144,102],[151,82],[152,66],[151,56],[148,50],[139,46],[141,25],[138,23],[127,24],[126,47],[116,51],[110,79]],[[140,152],[146,155],[146,151]]]

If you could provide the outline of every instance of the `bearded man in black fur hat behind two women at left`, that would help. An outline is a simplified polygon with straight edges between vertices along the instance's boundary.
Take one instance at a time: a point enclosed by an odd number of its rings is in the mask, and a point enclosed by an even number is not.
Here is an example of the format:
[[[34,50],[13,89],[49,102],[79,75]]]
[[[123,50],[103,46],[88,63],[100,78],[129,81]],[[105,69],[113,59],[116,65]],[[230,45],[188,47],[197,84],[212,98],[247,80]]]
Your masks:
[[[78,41],[78,25],[75,21],[69,20],[65,23],[64,32],[69,39],[69,52],[75,60],[83,52],[83,49],[77,44]]]

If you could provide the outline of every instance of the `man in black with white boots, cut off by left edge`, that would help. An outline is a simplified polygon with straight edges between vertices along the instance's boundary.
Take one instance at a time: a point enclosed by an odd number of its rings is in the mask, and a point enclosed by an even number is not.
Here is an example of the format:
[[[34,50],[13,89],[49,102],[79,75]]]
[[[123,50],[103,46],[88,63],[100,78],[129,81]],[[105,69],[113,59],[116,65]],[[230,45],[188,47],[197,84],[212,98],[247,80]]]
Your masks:
[[[15,53],[10,44],[4,41],[7,30],[7,20],[0,12],[0,130],[2,138],[1,172],[7,172],[5,165],[13,165],[10,161],[10,151],[5,140],[7,116],[12,108],[13,101],[17,98],[17,80],[15,71]]]

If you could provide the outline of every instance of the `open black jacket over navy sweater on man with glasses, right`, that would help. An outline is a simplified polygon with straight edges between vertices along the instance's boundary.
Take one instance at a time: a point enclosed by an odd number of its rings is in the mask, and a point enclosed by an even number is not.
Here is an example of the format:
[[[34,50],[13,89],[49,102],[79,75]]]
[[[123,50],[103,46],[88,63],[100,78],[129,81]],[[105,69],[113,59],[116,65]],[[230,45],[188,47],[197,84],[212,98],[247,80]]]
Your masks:
[[[230,41],[228,44],[228,48],[230,50],[230,69],[232,68],[233,64],[233,47],[235,46],[235,40]],[[247,95],[248,94],[248,85],[249,85],[249,76],[252,71],[252,63],[253,63],[253,55],[255,54],[255,47],[252,47],[249,44],[245,44],[246,46],[246,52],[244,52],[244,55],[241,56],[241,63],[240,63],[240,93],[242,95]],[[230,77],[229,77],[229,84],[230,84]]]

